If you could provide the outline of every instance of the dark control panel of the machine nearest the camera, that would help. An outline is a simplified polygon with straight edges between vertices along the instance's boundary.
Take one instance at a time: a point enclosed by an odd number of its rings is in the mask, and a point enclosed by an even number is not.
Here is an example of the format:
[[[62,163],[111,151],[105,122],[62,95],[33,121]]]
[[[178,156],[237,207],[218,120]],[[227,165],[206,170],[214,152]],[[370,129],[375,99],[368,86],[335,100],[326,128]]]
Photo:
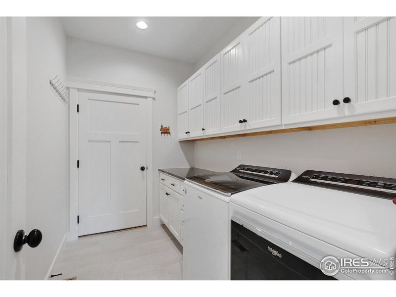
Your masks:
[[[379,198],[396,198],[396,179],[307,170],[293,182]]]

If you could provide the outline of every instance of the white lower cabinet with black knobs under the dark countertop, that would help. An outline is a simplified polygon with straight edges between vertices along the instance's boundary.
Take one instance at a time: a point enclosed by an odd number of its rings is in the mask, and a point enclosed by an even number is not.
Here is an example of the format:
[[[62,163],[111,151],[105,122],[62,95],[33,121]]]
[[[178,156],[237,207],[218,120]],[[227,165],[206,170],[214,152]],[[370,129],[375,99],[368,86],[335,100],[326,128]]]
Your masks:
[[[160,173],[159,217],[173,236],[183,245],[181,238],[183,213],[183,181]]]

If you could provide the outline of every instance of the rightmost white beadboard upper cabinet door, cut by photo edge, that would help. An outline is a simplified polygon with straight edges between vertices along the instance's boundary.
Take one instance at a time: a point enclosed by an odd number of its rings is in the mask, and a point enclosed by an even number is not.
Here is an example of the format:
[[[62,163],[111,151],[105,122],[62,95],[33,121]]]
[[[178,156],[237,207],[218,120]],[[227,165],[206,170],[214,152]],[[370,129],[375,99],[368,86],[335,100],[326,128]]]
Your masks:
[[[396,109],[396,18],[344,18],[345,114]]]

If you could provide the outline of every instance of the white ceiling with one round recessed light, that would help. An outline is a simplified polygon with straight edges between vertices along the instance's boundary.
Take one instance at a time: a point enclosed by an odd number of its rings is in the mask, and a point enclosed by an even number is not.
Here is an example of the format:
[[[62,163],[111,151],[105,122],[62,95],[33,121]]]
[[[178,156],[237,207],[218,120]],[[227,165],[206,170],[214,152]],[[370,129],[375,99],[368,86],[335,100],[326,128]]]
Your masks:
[[[242,17],[62,17],[68,36],[195,63]],[[148,29],[136,27],[145,21]]]

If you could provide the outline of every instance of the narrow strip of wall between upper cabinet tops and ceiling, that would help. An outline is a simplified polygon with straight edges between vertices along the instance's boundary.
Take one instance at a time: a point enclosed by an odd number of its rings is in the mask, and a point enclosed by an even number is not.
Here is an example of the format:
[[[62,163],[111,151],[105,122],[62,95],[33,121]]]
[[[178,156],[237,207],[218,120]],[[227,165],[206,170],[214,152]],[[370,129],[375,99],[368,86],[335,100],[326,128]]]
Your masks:
[[[241,17],[241,19],[227,31],[221,38],[219,38],[213,46],[206,51],[197,62],[194,64],[194,72],[201,68],[207,61],[219,53],[222,49],[228,46],[235,38],[245,32],[259,17]],[[187,80],[187,77],[186,79]]]

